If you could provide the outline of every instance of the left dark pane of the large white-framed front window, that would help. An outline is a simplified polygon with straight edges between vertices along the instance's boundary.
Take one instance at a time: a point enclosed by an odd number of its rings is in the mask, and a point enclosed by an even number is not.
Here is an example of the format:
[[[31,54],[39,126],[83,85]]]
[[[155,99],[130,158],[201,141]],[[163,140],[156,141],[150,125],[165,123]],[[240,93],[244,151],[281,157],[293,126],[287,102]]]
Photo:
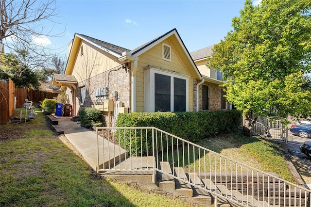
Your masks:
[[[171,111],[171,77],[155,73],[155,111]]]

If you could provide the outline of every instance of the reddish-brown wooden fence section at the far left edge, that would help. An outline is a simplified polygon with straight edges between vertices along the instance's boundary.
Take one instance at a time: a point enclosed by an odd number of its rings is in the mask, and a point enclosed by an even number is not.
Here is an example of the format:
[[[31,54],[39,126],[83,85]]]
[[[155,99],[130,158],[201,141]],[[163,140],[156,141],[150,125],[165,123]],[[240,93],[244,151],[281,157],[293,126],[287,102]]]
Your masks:
[[[0,124],[9,122],[9,117],[14,111],[14,88],[15,85],[11,79],[9,82],[0,82]]]

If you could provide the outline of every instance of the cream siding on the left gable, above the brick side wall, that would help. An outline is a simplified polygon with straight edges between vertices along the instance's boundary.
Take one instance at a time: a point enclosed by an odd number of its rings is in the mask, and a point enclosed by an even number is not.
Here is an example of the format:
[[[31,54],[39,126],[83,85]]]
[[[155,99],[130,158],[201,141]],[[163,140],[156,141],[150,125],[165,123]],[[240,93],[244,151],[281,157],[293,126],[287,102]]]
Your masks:
[[[80,48],[83,47],[83,55]],[[89,43],[82,42],[75,57],[72,75],[81,82],[120,65],[117,58]]]

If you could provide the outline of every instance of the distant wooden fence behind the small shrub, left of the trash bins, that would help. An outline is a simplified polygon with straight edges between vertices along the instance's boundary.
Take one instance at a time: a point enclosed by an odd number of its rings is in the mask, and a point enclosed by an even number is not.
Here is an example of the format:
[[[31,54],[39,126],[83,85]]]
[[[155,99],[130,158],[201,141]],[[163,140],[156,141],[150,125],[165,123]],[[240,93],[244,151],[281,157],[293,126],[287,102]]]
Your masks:
[[[40,103],[40,101],[43,101],[45,98],[52,99],[57,97],[57,95],[58,93],[36,91],[34,89],[27,88],[16,88],[16,107],[23,107],[26,98],[34,103]]]

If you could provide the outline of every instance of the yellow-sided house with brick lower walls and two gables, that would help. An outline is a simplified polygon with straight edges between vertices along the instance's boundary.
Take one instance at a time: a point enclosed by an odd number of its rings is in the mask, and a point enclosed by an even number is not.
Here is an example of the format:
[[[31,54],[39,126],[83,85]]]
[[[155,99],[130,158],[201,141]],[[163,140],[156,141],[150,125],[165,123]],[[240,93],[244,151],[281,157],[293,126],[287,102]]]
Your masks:
[[[72,115],[92,106],[108,126],[119,112],[220,110],[222,83],[201,74],[176,29],[133,50],[76,33],[65,74],[52,79]]]

